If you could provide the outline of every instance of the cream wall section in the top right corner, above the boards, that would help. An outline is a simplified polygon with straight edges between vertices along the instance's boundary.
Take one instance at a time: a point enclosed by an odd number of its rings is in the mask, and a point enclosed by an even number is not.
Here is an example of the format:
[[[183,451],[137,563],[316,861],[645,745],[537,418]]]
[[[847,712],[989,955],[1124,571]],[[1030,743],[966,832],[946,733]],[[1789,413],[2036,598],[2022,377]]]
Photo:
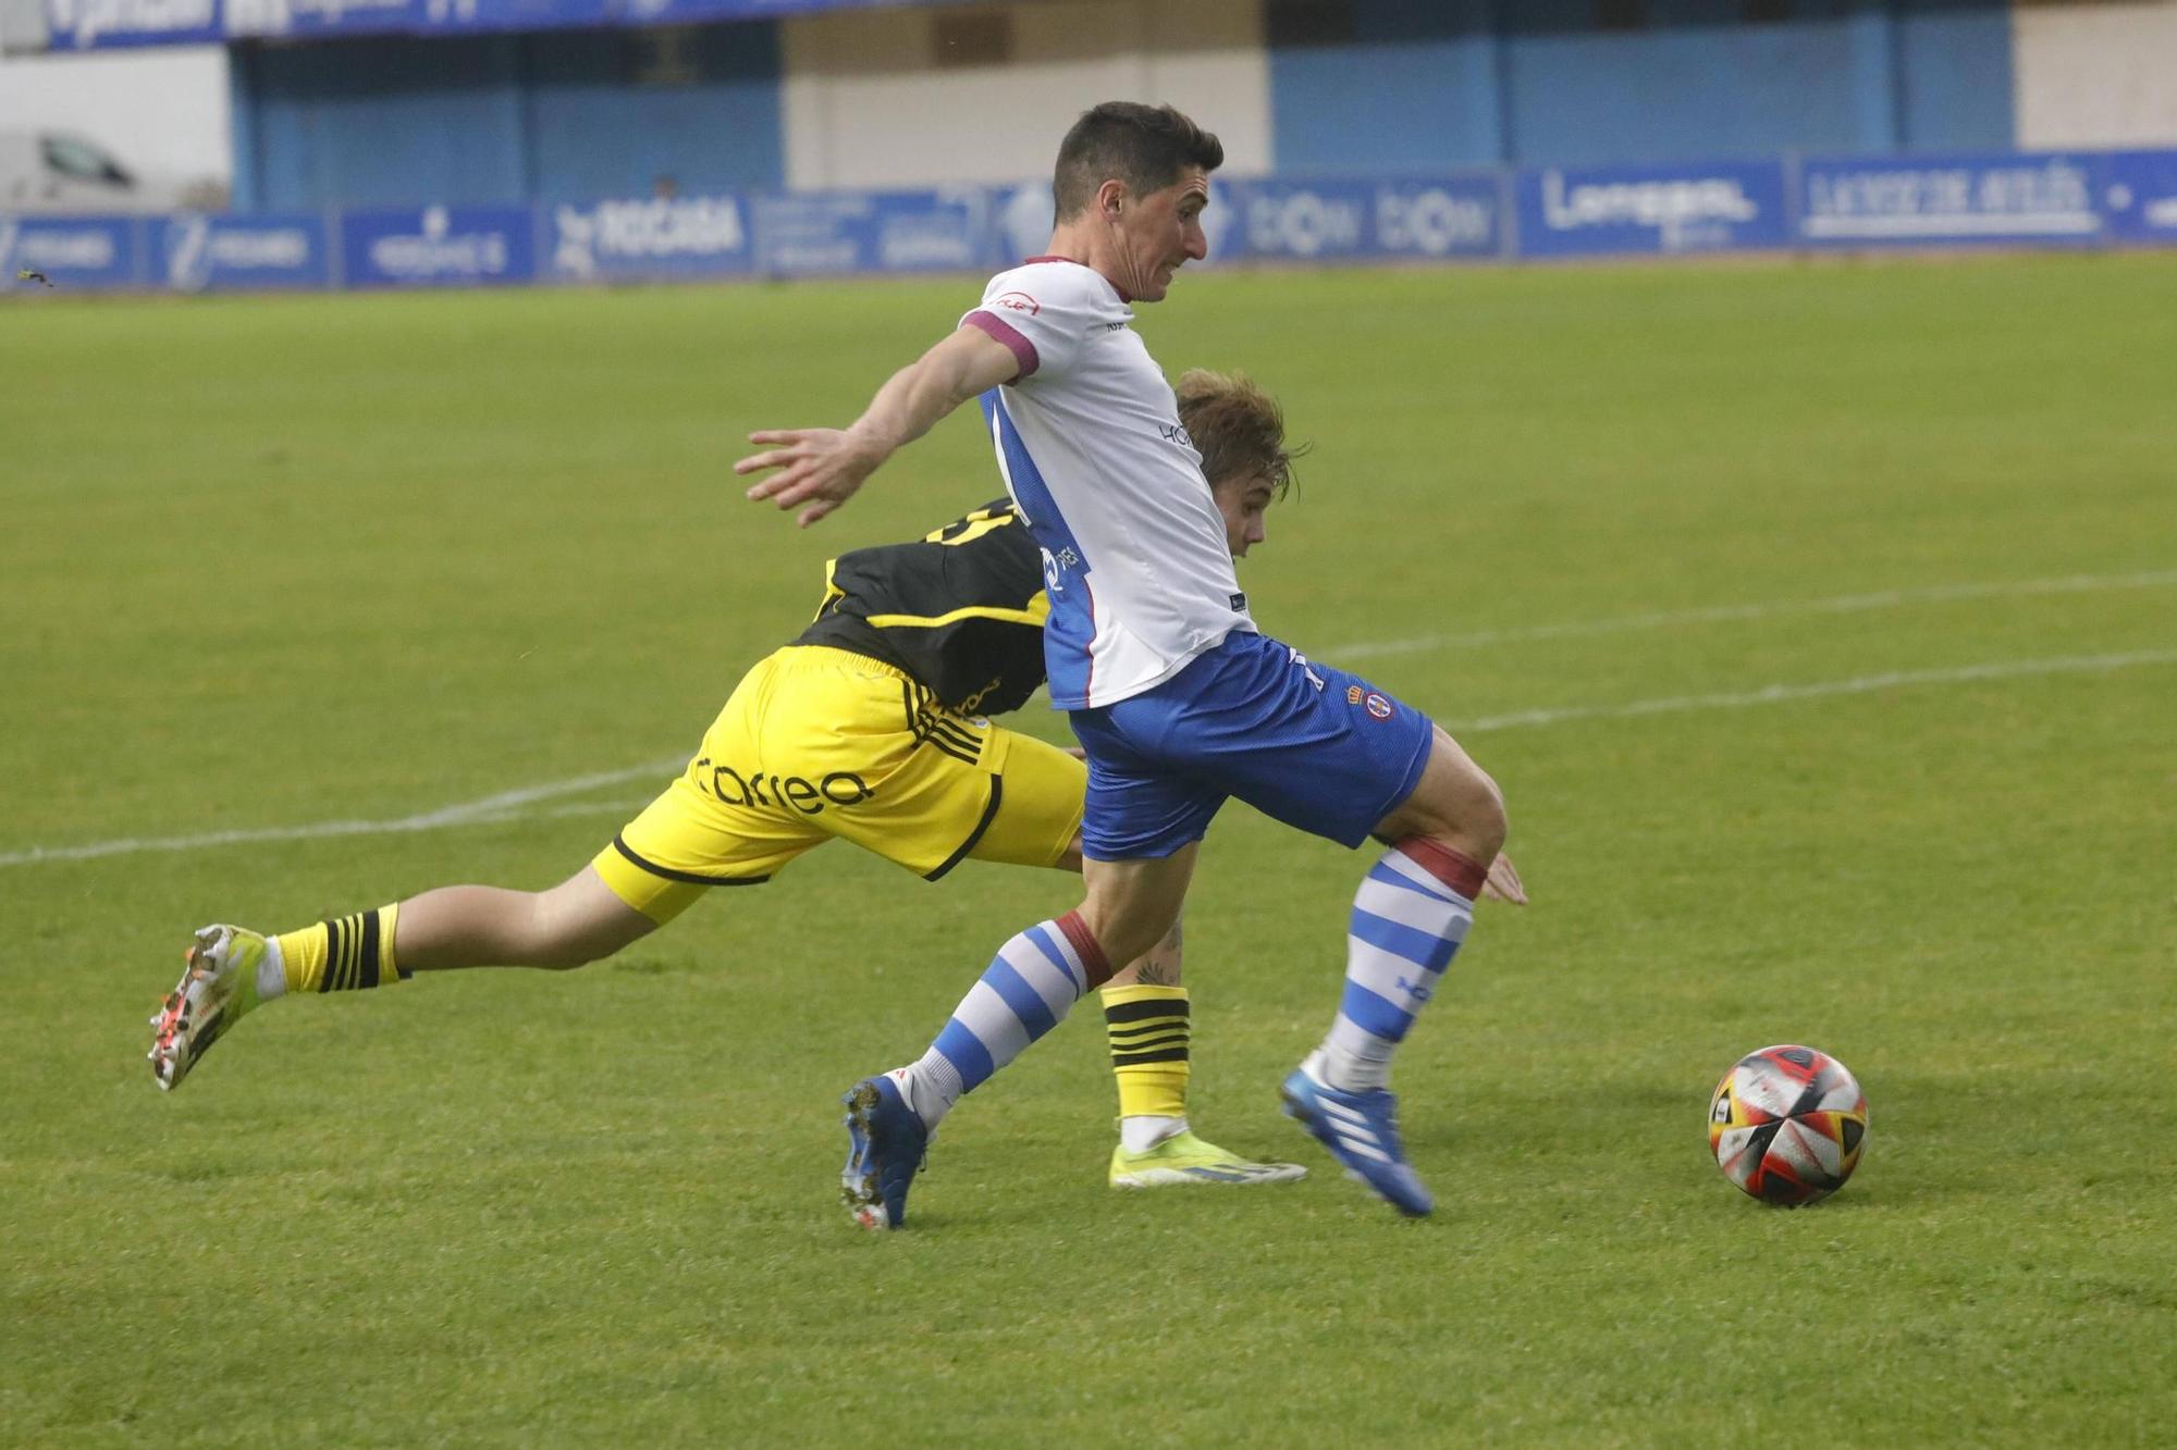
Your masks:
[[[2177,146],[2177,0],[2022,4],[2018,144]]]

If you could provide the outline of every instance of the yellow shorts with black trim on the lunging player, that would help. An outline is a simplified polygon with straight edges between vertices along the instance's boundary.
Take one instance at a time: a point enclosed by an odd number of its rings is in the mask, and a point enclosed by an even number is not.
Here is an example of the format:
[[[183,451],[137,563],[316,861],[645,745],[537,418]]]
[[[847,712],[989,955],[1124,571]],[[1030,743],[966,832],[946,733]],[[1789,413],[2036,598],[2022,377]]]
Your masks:
[[[688,771],[592,864],[660,923],[834,836],[932,882],[962,860],[1058,867],[1086,790],[1073,755],[947,710],[890,664],[788,644],[742,675]]]

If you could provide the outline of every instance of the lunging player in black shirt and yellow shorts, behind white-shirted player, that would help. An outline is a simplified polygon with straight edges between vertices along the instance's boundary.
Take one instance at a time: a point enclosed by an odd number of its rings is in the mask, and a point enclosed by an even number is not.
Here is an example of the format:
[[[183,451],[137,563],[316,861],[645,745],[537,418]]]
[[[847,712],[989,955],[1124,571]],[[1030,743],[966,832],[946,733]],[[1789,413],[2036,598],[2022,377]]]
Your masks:
[[[1189,372],[1178,401],[1239,557],[1291,481],[1284,420],[1243,377]],[[1043,684],[1047,610],[1041,553],[1006,501],[919,542],[832,560],[810,627],[742,677],[679,779],[559,886],[442,886],[276,936],[202,927],[152,1017],[159,1086],[179,1086],[281,995],[462,967],[581,967],[832,838],[925,880],[962,860],[1080,871],[1086,766],[988,718]],[[1104,986],[1104,1017],[1119,1080],[1112,1187],[1304,1176],[1191,1132],[1178,927]]]

